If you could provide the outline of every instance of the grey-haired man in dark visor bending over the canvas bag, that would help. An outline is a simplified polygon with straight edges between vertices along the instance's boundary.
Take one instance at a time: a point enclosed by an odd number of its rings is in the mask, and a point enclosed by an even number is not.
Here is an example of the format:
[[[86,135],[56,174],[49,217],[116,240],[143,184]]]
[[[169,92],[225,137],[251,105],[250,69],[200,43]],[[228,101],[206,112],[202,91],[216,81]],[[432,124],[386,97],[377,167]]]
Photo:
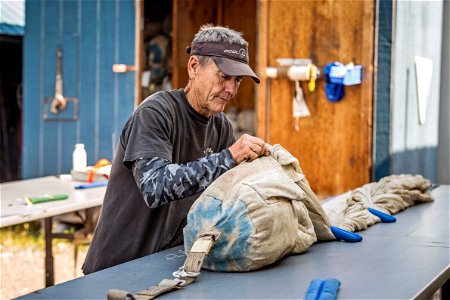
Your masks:
[[[147,98],[125,124],[83,272],[89,274],[183,243],[192,203],[243,161],[269,155],[260,138],[235,142],[223,113],[248,65],[242,34],[204,25],[187,52],[184,89]]]

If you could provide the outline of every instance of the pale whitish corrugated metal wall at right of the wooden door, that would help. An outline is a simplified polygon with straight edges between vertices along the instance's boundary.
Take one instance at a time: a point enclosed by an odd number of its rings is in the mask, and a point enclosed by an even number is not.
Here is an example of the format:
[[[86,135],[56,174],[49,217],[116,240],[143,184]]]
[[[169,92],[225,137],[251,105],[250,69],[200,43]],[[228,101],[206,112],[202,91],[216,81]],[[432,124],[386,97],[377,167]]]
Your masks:
[[[392,79],[391,172],[436,181],[443,1],[397,1]],[[419,124],[415,57],[433,62],[426,121]]]

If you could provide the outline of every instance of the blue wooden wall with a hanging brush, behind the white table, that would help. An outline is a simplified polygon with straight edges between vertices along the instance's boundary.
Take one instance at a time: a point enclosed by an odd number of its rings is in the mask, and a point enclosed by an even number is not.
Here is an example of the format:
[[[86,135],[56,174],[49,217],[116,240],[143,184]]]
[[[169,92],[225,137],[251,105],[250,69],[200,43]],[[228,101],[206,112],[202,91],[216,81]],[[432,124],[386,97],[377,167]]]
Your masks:
[[[85,144],[88,165],[111,160],[135,107],[134,72],[112,72],[115,63],[134,64],[134,0],[27,0],[25,5],[22,177],[69,173],[75,143]],[[58,47],[63,95],[78,98],[76,121],[44,118],[44,99],[55,94]]]

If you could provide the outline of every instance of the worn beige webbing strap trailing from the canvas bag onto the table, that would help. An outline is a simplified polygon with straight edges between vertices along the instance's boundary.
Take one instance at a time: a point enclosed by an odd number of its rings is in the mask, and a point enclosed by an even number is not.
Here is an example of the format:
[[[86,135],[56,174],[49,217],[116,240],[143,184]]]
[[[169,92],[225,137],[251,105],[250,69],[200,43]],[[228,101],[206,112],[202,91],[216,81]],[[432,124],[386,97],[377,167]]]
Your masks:
[[[110,289],[107,294],[108,300],[151,300],[163,293],[180,289],[191,284],[200,275],[203,260],[220,236],[218,231],[203,232],[189,251],[184,266],[173,272],[174,279],[163,279],[160,283],[135,294],[123,290]]]

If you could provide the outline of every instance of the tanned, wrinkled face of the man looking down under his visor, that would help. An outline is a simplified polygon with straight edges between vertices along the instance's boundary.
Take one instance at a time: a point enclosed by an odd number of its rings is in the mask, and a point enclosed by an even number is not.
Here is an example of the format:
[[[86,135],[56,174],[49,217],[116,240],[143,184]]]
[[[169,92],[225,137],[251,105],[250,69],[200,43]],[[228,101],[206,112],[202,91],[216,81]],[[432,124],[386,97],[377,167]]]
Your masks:
[[[200,67],[192,87],[199,112],[207,117],[223,112],[227,103],[237,94],[241,80],[241,76],[223,74],[212,60],[206,66]]]

